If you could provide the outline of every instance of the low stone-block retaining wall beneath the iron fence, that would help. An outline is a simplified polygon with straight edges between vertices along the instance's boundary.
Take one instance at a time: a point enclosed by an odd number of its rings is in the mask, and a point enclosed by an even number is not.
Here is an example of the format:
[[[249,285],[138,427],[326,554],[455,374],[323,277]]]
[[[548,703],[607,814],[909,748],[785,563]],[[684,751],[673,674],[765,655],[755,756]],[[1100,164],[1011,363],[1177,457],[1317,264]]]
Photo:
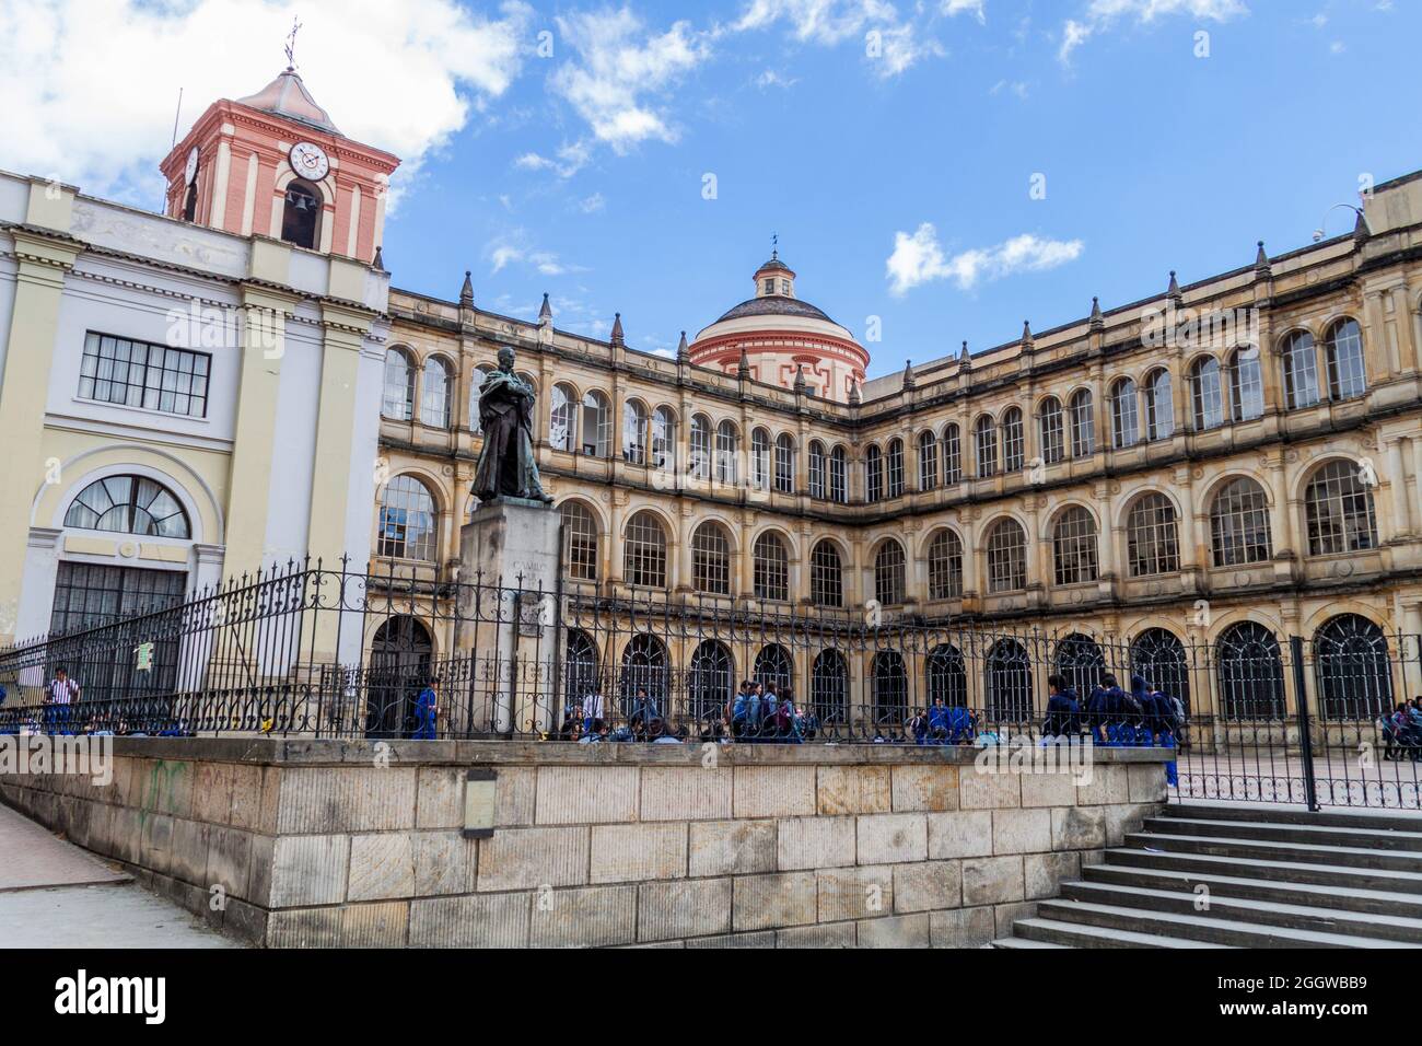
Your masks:
[[[1165,800],[973,749],[118,739],[0,797],[269,946],[975,946]],[[462,835],[465,773],[495,831]]]

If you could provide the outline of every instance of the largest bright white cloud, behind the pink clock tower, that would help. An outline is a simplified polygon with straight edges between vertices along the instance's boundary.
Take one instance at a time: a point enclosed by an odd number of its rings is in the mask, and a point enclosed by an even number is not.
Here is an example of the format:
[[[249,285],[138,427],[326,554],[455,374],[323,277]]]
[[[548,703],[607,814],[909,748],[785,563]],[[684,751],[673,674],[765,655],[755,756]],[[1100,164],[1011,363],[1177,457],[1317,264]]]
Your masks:
[[[388,149],[408,181],[518,75],[532,20],[455,0],[303,0],[296,60],[351,138]],[[0,167],[156,205],[158,161],[209,102],[255,94],[284,65],[284,0],[0,3]]]

